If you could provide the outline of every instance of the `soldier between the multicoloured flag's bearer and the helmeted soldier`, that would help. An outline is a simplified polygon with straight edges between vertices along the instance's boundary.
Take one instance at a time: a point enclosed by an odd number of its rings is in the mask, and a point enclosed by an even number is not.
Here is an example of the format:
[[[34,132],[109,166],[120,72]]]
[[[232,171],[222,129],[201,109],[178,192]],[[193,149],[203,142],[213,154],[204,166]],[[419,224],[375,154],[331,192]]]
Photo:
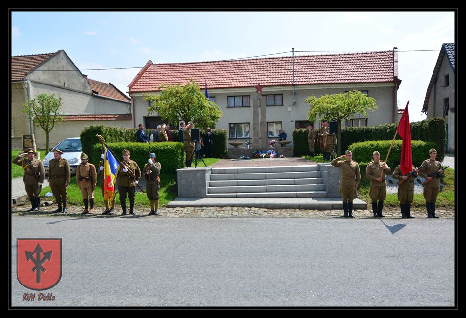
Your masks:
[[[136,185],[138,184],[139,178],[141,178],[141,170],[137,163],[133,160],[130,160],[130,151],[126,149],[123,150],[123,161],[134,170],[134,181],[131,178],[131,171],[123,164],[120,166],[118,171],[118,192],[120,193],[120,203],[123,213],[121,215],[126,215],[126,194],[130,199],[130,214],[136,214],[133,211],[134,208],[134,199],[136,198],[135,190]]]

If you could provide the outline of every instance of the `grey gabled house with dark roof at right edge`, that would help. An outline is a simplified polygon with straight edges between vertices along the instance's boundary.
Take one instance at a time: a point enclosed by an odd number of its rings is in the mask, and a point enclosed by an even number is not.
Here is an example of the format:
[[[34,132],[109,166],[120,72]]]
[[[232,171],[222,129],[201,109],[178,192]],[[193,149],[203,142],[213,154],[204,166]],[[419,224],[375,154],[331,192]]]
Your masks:
[[[422,111],[427,119],[445,118],[447,151],[455,152],[455,44],[443,43],[429,85]]]

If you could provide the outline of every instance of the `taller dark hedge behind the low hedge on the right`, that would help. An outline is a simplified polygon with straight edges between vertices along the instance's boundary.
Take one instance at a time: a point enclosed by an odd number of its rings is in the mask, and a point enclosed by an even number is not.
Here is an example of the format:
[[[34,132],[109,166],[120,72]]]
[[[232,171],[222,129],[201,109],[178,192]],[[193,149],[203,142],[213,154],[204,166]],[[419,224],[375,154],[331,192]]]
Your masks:
[[[392,140],[398,127],[398,123],[379,126],[348,127],[341,131],[341,149],[345,151],[355,141]],[[437,160],[443,161],[445,157],[446,132],[443,118],[432,118],[419,122],[413,122],[411,127],[411,140],[432,141],[432,147],[437,150]],[[294,138],[294,134],[293,134]],[[399,134],[395,140],[401,140]],[[425,159],[429,151],[424,153]],[[356,160],[357,161],[357,160]],[[414,162],[414,157],[413,157]]]

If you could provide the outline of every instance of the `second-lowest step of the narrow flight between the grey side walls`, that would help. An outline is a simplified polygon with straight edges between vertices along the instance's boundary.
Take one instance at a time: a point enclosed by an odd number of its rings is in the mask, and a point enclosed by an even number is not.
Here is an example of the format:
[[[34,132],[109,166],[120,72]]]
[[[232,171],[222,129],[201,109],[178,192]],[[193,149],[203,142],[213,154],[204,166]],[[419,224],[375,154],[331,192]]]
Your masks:
[[[250,186],[215,186],[208,187],[207,193],[249,193],[249,192],[297,192],[325,191],[324,184],[299,185],[250,185]]]

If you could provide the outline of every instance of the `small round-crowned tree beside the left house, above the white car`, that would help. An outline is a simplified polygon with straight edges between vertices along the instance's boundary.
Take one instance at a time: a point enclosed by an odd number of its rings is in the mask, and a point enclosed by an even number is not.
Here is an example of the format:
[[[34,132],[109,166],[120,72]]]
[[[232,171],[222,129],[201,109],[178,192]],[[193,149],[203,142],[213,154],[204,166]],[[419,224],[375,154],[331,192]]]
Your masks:
[[[49,152],[49,133],[55,127],[56,123],[63,120],[62,110],[63,102],[60,94],[58,98],[55,94],[39,94],[36,98],[23,103],[23,113],[28,114],[29,120],[39,124],[45,132],[45,150]]]

